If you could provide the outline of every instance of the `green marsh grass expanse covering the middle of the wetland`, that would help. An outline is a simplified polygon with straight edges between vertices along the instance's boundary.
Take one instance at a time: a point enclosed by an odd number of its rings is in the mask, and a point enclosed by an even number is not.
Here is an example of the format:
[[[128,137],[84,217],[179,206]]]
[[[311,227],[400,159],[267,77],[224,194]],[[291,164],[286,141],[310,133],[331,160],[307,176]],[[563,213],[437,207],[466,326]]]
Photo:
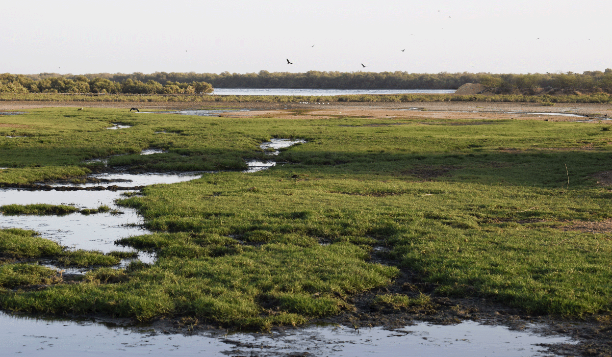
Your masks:
[[[116,122],[132,127],[105,129]],[[263,141],[307,140],[266,171],[206,173],[121,200],[155,233],[118,244],[156,252],[153,265],[62,277],[19,260],[59,257],[42,248],[52,242],[0,231],[2,309],[265,329],[351,311],[381,288],[372,309],[477,296],[528,314],[611,315],[612,187],[594,178],[611,170],[608,124],[95,108],[34,109],[0,123],[0,182],[78,178],[106,170],[83,160],[114,154],[125,155],[111,168],[240,170],[265,157]],[[149,148],[167,152],[138,155]],[[593,222],[601,228],[582,233]],[[34,253],[15,248],[23,239]],[[401,293],[384,292],[406,276]]]

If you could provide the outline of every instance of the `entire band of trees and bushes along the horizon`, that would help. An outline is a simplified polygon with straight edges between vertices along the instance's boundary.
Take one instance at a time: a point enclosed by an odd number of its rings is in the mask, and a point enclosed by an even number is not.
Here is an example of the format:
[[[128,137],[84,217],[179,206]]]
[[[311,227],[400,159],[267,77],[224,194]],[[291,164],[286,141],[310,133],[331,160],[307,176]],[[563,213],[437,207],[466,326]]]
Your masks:
[[[480,83],[502,89],[591,89],[612,92],[612,69],[583,73],[408,73],[319,72],[306,73],[94,73],[86,75],[0,75],[0,92],[193,94],[215,88],[388,88],[457,89]]]

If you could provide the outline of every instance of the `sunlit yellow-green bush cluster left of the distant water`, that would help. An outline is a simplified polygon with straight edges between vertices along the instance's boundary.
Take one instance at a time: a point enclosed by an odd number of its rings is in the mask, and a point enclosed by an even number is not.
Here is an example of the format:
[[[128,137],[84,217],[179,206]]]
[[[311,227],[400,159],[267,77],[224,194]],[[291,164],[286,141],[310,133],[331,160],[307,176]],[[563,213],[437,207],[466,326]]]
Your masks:
[[[33,78],[34,77],[34,78]],[[40,77],[40,78],[36,78]],[[0,74],[0,93],[94,93],[94,94],[209,94],[212,85],[203,81],[180,83],[132,80],[113,81],[103,77],[84,75],[12,75]]]

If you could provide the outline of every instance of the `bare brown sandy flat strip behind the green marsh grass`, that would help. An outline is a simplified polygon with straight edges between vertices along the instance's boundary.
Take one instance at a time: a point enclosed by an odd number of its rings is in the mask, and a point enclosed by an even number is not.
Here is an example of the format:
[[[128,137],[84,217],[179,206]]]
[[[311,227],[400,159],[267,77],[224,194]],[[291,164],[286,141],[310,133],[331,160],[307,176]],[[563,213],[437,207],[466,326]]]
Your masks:
[[[536,119],[546,121],[584,121],[595,118],[612,118],[612,105],[599,103],[558,103],[545,107],[540,103],[498,102],[401,102],[401,103],[258,103],[258,102],[0,102],[0,111],[28,110],[34,108],[125,108],[144,110],[184,110],[198,108],[248,109],[225,113],[230,118],[274,117],[294,119],[326,119],[336,116],[364,118],[428,118],[428,119]],[[411,109],[412,108],[412,109]],[[296,110],[299,113],[296,113]],[[567,113],[576,116],[559,116],[530,113]],[[594,121],[599,122],[599,121]],[[612,124],[612,121],[610,121]]]

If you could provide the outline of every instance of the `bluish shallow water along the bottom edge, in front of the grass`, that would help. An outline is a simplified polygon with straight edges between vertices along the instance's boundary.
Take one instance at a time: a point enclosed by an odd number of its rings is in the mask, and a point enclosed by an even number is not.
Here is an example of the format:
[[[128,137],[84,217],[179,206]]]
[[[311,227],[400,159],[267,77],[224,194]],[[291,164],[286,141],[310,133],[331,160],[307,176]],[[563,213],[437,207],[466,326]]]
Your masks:
[[[354,330],[343,326],[275,329],[272,333],[206,331],[185,336],[151,326],[105,326],[94,321],[28,317],[0,312],[2,349],[28,356],[551,356],[536,344],[575,343],[467,321],[439,326],[417,323],[403,329]],[[408,352],[409,351],[409,352]],[[301,355],[301,354],[300,354]]]

